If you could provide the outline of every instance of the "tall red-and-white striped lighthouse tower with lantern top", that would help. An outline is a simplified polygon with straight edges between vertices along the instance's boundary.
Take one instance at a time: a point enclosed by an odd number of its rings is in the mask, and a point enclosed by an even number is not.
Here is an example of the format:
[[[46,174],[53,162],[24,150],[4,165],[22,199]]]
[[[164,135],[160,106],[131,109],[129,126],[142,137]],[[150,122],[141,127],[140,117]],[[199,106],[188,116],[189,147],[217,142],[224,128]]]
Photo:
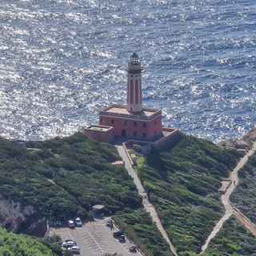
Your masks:
[[[127,110],[130,113],[142,112],[142,66],[135,53],[128,62]]]

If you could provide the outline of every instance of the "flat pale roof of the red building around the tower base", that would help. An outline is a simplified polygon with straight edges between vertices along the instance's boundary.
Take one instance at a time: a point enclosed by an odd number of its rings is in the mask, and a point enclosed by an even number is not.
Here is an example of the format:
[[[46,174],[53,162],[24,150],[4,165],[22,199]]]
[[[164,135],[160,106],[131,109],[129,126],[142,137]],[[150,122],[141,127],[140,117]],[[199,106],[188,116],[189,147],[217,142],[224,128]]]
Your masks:
[[[112,105],[107,107],[105,110],[100,111],[99,114],[120,116],[126,118],[137,118],[137,119],[152,119],[155,116],[162,114],[161,110],[154,109],[143,109],[138,113],[130,113],[127,110],[127,106],[124,105]]]

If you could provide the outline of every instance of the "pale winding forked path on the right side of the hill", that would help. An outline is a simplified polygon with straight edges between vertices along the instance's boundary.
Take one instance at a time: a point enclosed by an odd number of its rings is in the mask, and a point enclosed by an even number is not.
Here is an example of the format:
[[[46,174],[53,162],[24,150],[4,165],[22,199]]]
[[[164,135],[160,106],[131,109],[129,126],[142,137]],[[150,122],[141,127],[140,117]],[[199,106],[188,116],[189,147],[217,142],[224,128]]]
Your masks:
[[[205,244],[202,246],[201,254],[205,252],[207,247],[209,246],[209,243],[211,239],[213,239],[216,234],[218,234],[218,231],[222,229],[222,226],[226,220],[230,218],[232,214],[235,214],[237,211],[234,210],[233,206],[230,204],[230,195],[233,193],[236,186],[238,186],[239,178],[238,178],[238,171],[242,169],[243,166],[245,166],[246,162],[249,160],[250,156],[252,156],[256,151],[256,142],[254,142],[251,150],[249,150],[243,158],[240,159],[238,162],[238,165],[235,166],[234,170],[230,173],[230,181],[231,185],[228,187],[226,192],[222,194],[222,204],[225,207],[225,214],[224,216],[218,221],[216,226],[214,226],[214,230],[211,232],[210,236],[206,239]],[[239,211],[239,213],[241,213]],[[242,213],[241,213],[242,214]],[[239,216],[238,220],[242,222],[242,225],[245,226],[248,230],[251,230],[251,225],[248,225],[248,222],[245,222],[245,219],[242,218],[244,216],[243,214],[235,214]],[[252,224],[252,223],[250,223]],[[248,228],[250,226],[250,229]]]

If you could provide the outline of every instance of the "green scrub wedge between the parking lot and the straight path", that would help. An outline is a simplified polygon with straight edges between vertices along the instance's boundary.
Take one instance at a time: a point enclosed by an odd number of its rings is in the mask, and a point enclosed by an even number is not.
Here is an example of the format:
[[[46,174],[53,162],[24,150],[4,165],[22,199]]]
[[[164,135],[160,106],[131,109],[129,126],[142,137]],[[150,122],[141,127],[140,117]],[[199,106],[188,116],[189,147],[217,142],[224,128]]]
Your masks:
[[[114,221],[147,256],[172,255],[157,227],[153,225],[150,214],[145,210],[119,214]]]

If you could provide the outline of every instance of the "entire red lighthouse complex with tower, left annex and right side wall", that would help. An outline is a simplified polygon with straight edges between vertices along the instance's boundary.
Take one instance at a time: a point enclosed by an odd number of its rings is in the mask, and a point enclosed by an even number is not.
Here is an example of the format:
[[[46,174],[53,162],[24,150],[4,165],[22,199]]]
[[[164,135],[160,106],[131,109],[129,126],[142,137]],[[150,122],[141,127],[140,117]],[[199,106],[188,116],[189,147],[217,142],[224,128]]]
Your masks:
[[[177,129],[162,127],[162,110],[142,104],[142,66],[137,54],[132,54],[127,70],[126,105],[111,105],[99,112],[99,125],[84,130],[93,140],[111,142],[114,138],[153,142],[154,145],[178,138]]]

